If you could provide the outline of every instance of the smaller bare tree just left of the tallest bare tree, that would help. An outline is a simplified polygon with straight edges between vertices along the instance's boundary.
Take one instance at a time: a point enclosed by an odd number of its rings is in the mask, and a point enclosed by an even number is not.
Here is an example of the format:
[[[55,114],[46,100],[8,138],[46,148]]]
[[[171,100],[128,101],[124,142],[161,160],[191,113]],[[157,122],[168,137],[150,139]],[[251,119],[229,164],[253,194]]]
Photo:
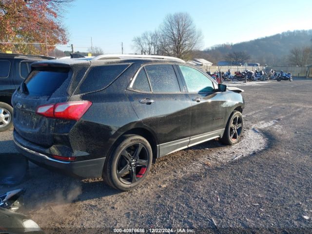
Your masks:
[[[145,32],[140,37],[135,37],[132,42],[134,48],[140,53],[156,55],[158,52],[157,32]]]

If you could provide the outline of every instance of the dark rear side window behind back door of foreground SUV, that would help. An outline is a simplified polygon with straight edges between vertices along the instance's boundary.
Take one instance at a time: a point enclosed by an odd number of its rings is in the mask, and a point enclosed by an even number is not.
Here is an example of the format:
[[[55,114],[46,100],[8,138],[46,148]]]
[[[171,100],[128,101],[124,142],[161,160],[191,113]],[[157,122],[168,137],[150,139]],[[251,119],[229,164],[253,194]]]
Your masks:
[[[110,85],[130,64],[93,66],[82,81],[79,93],[94,92]]]

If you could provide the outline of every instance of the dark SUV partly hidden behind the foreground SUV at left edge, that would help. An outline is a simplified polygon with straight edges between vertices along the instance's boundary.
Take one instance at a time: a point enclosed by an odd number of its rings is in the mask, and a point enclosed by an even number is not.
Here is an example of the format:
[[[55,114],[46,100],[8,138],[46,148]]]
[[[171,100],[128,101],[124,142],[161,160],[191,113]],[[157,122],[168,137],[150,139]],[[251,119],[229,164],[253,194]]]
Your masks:
[[[0,53],[0,132],[12,126],[12,94],[28,76],[30,64],[52,57]]]

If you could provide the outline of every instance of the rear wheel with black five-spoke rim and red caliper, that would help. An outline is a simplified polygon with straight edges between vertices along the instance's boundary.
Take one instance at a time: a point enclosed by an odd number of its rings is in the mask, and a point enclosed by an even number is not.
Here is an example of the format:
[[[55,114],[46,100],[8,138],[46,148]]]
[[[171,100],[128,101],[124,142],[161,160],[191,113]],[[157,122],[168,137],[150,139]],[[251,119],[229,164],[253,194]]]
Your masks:
[[[139,154],[136,154],[139,150]],[[153,153],[150,143],[138,135],[124,135],[105,160],[103,179],[111,187],[128,191],[148,175]]]

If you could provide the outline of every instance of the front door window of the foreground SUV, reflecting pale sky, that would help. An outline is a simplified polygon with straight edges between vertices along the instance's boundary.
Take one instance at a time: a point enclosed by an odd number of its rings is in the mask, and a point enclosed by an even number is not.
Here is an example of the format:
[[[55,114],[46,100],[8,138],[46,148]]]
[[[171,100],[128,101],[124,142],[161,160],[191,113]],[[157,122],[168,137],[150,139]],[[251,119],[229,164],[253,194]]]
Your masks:
[[[200,71],[183,65],[179,65],[179,68],[190,93],[207,93],[214,91],[213,81]]]

